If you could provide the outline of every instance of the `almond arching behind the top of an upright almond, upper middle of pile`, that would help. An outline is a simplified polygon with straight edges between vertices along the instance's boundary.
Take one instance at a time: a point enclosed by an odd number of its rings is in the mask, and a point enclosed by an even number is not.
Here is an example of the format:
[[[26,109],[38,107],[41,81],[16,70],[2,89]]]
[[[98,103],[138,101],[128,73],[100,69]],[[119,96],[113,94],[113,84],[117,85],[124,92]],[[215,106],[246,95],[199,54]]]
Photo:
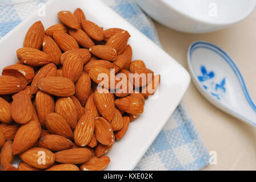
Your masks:
[[[88,49],[72,49],[62,54],[61,56],[61,64],[64,64],[64,61],[66,59],[69,59],[69,57],[72,54],[77,54],[82,57],[83,64],[86,64],[91,59],[91,53]]]

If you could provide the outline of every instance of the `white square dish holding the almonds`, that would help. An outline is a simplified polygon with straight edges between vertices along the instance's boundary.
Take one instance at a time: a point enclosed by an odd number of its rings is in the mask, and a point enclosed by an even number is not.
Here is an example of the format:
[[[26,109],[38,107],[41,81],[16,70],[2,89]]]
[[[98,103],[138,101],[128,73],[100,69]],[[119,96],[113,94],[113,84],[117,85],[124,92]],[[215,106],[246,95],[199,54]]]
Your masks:
[[[46,3],[46,16],[34,12],[0,41],[0,68],[17,63],[16,50],[23,46],[26,32],[34,22],[41,20],[45,28],[59,22],[57,13],[62,10],[73,12],[81,8],[86,18],[104,29],[123,28],[129,31],[129,44],[133,48],[133,60],[145,61],[147,68],[161,75],[158,98],[147,100],[145,112],[130,123],[125,137],[114,143],[107,154],[111,162],[106,170],[133,170],[147,149],[153,143],[170,115],[178,106],[190,82],[187,71],[154,44],[149,38],[126,22],[110,7],[99,0],[54,0]]]

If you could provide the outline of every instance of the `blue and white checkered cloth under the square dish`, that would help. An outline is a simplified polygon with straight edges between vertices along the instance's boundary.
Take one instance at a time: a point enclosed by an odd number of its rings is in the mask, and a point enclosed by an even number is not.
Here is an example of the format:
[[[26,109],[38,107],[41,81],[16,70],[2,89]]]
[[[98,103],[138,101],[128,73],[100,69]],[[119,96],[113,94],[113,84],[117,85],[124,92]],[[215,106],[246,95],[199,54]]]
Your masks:
[[[1,0],[0,38],[47,0]],[[133,0],[103,0],[148,38],[161,46],[154,24]],[[209,163],[209,152],[180,104],[135,170],[198,170]]]

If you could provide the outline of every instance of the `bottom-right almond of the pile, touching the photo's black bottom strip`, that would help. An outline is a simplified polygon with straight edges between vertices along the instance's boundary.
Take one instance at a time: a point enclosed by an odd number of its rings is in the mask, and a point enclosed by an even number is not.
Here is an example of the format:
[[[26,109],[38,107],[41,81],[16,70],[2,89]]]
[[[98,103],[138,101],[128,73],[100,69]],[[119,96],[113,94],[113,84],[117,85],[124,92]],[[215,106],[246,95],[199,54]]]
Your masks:
[[[86,163],[80,166],[81,171],[102,171],[107,166],[109,166],[110,158],[108,156],[97,156],[92,157]]]

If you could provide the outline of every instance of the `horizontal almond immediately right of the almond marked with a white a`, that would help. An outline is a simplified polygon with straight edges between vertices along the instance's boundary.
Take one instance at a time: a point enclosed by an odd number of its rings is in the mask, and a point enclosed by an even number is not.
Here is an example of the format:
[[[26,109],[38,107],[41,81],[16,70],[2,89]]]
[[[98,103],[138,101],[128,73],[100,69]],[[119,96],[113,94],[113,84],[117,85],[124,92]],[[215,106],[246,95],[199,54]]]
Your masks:
[[[91,151],[87,148],[72,148],[55,153],[55,160],[65,164],[82,164],[91,158]]]

